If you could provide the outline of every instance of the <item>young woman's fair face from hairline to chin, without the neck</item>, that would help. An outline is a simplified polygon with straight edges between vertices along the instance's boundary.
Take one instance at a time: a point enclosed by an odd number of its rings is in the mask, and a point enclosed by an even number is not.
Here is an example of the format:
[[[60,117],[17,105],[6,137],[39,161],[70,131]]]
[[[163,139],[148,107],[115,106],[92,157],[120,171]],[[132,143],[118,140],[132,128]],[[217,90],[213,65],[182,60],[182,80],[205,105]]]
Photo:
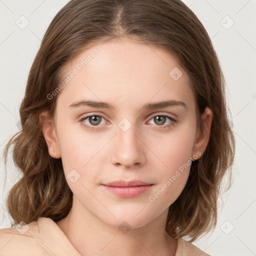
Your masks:
[[[207,144],[199,141],[188,75],[164,50],[124,38],[86,49],[66,75],[55,138],[46,129],[44,135],[51,156],[62,159],[73,203],[113,226],[156,219],[181,193],[191,158]],[[163,101],[172,104],[155,104]],[[149,185],[106,185],[117,180]]]

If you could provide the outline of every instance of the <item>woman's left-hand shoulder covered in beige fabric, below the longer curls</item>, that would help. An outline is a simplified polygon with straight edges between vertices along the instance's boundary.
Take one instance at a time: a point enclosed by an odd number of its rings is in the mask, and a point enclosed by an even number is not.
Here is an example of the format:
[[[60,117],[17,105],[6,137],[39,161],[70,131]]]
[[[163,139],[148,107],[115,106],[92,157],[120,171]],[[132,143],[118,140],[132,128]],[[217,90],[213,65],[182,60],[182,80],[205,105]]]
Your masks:
[[[51,255],[33,234],[38,233],[37,221],[23,226],[0,229],[0,256]]]

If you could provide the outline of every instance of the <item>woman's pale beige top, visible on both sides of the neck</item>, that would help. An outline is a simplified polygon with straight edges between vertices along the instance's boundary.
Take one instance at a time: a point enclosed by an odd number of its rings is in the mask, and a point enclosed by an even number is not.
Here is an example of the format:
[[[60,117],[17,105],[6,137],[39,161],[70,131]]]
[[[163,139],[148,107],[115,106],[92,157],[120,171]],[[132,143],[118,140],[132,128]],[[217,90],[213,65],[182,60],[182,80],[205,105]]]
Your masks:
[[[22,227],[0,229],[0,256],[81,256],[51,219],[39,217]],[[210,256],[182,238],[175,256]]]

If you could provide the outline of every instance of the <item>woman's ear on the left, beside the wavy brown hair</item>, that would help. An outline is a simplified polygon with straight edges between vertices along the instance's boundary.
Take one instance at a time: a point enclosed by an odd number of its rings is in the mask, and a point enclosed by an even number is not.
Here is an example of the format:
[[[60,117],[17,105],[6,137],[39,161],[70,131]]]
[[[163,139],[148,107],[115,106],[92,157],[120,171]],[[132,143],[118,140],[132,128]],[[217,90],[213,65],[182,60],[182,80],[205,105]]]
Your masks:
[[[60,149],[53,120],[48,117],[47,112],[42,112],[39,115],[39,120],[42,125],[42,133],[48,146],[49,155],[53,158],[60,158]]]

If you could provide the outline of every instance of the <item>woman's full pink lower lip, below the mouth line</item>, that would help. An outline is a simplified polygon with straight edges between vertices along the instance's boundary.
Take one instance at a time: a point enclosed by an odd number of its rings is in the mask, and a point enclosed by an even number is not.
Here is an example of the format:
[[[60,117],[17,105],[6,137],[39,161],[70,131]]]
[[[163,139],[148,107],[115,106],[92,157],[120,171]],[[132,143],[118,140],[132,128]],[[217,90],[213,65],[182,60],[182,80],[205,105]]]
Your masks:
[[[120,197],[131,198],[148,191],[152,186],[152,184],[143,185],[143,186],[128,186],[128,187],[107,186],[107,185],[103,185],[103,186],[107,191],[114,193]]]

